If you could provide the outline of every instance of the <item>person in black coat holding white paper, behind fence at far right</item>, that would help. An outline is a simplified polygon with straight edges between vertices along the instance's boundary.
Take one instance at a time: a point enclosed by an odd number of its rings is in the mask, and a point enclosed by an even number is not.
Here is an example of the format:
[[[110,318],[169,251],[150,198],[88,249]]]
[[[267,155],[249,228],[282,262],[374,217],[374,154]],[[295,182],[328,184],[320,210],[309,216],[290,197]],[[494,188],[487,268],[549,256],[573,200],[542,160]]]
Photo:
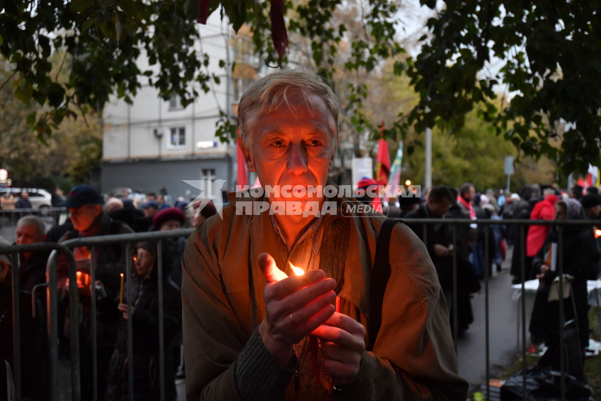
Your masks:
[[[585,219],[584,209],[575,199],[567,202],[558,201],[555,204],[555,219]],[[551,271],[549,266],[549,248],[552,243],[558,242],[558,228],[553,227],[532,261],[532,268],[536,271],[537,278],[541,281],[537,290],[529,331],[532,337],[545,340],[547,346],[551,346],[559,338],[559,301],[547,302],[551,283],[558,276],[558,266]],[[564,311],[566,322],[570,319],[578,320],[578,333],[581,348],[588,346],[588,292],[587,279],[597,278],[597,263],[599,262],[599,251],[595,244],[593,233],[586,225],[567,225],[563,228],[562,235],[563,272],[573,277],[572,299],[564,299]],[[560,249],[557,251],[559,257]],[[556,265],[559,262],[556,263]],[[576,310],[576,316],[574,314]],[[584,355],[584,354],[583,354]]]

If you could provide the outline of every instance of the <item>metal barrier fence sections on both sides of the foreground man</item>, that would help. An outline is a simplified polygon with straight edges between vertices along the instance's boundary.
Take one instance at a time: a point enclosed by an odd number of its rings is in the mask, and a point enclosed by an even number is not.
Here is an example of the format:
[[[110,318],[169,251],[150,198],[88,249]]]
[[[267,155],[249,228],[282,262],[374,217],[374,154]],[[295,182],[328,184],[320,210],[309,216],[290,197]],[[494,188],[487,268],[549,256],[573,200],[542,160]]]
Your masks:
[[[562,245],[563,245],[563,230],[564,227],[569,225],[582,225],[592,227],[597,225],[601,227],[601,220],[599,221],[546,221],[546,220],[495,220],[495,219],[407,219],[406,222],[411,225],[422,224],[424,227],[424,243],[427,242],[427,226],[429,224],[450,224],[452,227],[452,241],[453,241],[453,305],[457,305],[457,225],[460,224],[482,224],[486,227],[490,225],[517,225],[520,229],[520,240],[525,243],[525,228],[529,225],[557,225],[558,227],[558,255],[557,255],[557,271],[559,277],[563,276],[563,256]],[[80,388],[80,369],[79,369],[79,325],[73,324],[73,322],[79,322],[79,307],[78,307],[78,284],[77,284],[77,269],[75,257],[73,256],[70,249],[78,246],[91,246],[91,283],[95,283],[96,279],[94,276],[95,260],[94,260],[94,246],[106,245],[110,243],[126,243],[126,277],[130,278],[132,274],[132,243],[140,240],[156,240],[157,242],[157,266],[158,266],[158,287],[159,287],[159,382],[160,382],[160,399],[165,400],[165,358],[164,358],[164,328],[163,328],[163,266],[162,266],[162,240],[189,236],[194,229],[189,228],[185,230],[173,230],[173,231],[155,231],[150,233],[134,233],[134,234],[118,234],[112,236],[101,236],[101,237],[81,237],[66,242],[56,243],[33,243],[29,245],[12,245],[12,246],[0,246],[0,254],[12,254],[13,255],[13,272],[17,272],[19,269],[19,253],[23,252],[35,252],[35,251],[47,251],[52,249],[49,260],[47,262],[46,270],[46,283],[38,284],[32,291],[32,298],[35,296],[35,291],[41,287],[46,287],[46,299],[47,299],[47,335],[48,335],[48,346],[49,346],[49,360],[50,360],[50,399],[58,401],[58,317],[57,317],[57,284],[56,284],[56,263],[58,262],[59,254],[64,254],[67,257],[69,263],[69,303],[70,303],[70,320],[71,325],[71,387],[72,387],[72,399],[79,401],[81,399],[81,388]],[[484,297],[485,297],[485,333],[486,333],[486,399],[490,400],[490,340],[489,340],[489,230],[484,230]],[[526,266],[525,266],[525,247],[521,247],[521,281],[522,281],[522,296],[521,301],[521,320],[522,320],[522,372],[523,372],[523,400],[526,397],[526,297],[525,297],[525,286],[526,281]],[[563,280],[559,280],[559,293],[563,294]],[[127,280],[127,293],[131,293],[131,281]],[[20,378],[20,322],[19,322],[19,275],[13,274],[13,341],[14,341],[14,385],[16,400],[20,400],[21,394],[21,378]],[[601,307],[599,307],[600,290],[597,289],[597,310],[599,311],[599,329],[601,331]],[[564,325],[566,316],[564,313],[563,302],[560,304],[560,320],[558,322],[560,327],[560,343],[564,343]],[[131,316],[131,302],[127,302],[127,314]],[[35,308],[35,304],[34,304]],[[457,350],[457,307],[453,308],[454,313],[451,319],[453,325],[453,342]],[[91,316],[96,316],[96,288],[91,286]],[[91,333],[92,333],[92,364],[93,364],[93,399],[97,399],[97,335],[96,335],[96,319],[91,319]],[[600,333],[601,335],[601,333]],[[132,320],[127,319],[127,358],[132,361],[133,355],[133,336],[132,336]],[[561,366],[561,399],[566,399],[566,355],[563,346],[560,347],[560,366]],[[128,364],[128,382],[129,382],[129,399],[133,399],[133,364]],[[0,378],[2,379],[2,378]]]

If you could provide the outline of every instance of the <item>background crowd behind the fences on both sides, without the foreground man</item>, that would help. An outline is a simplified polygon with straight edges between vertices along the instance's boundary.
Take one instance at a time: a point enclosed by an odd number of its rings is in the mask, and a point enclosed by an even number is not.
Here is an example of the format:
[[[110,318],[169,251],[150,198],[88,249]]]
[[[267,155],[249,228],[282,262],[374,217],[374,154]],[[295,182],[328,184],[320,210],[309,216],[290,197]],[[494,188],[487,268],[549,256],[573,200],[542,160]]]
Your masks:
[[[362,180],[365,189],[376,183]],[[361,188],[360,185],[360,188]],[[364,203],[373,199],[362,198]],[[396,203],[395,203],[396,201]],[[164,194],[152,192],[136,207],[127,198],[109,197],[105,201],[90,186],[76,186],[69,197],[61,204],[69,210],[69,219],[46,231],[46,225],[37,216],[26,215],[19,219],[14,243],[17,245],[36,242],[65,242],[76,237],[104,236],[145,231],[174,230],[182,227],[196,227],[204,219],[216,213],[209,203],[200,213],[195,207],[186,209],[188,204],[178,200],[175,206],[165,202]],[[196,206],[197,207],[197,206]],[[558,315],[558,301],[547,302],[549,289],[557,278],[556,269],[551,269],[549,249],[558,242],[559,228],[554,225],[526,225],[523,233],[520,227],[511,224],[478,224],[478,219],[598,219],[601,212],[601,198],[596,188],[575,186],[570,194],[555,188],[526,185],[518,193],[503,193],[488,190],[477,192],[474,185],[465,183],[460,188],[435,186],[427,189],[423,197],[399,197],[385,204],[385,214],[389,218],[403,219],[413,232],[423,239],[427,252],[436,268],[438,279],[447,301],[450,319],[457,313],[458,335],[468,329],[473,322],[471,296],[481,289],[485,268],[501,271],[506,250],[513,247],[511,275],[513,283],[520,283],[522,266],[526,280],[538,278],[540,287],[535,303],[530,331],[535,341],[548,344],[557,341],[558,330],[555,324]],[[413,224],[412,219],[440,219],[441,224]],[[466,219],[471,222],[445,224],[445,219]],[[424,229],[426,230],[424,232]],[[455,231],[453,242],[453,230]],[[486,234],[488,231],[488,234]],[[572,303],[566,303],[566,319],[577,319],[581,344],[588,344],[588,305],[586,281],[596,280],[600,273],[599,243],[594,230],[589,225],[570,225],[563,231],[564,271],[572,276]],[[484,242],[489,240],[489,260],[484,260]],[[2,239],[2,244],[9,242]],[[182,352],[182,255],[186,245],[185,237],[163,240],[163,323],[165,328],[165,377],[166,399],[175,399],[175,378],[185,377]],[[133,385],[136,394],[144,393],[143,399],[157,397],[158,383],[158,254],[157,243],[142,241],[135,243],[133,253],[126,254],[126,244],[98,245],[94,248],[96,265],[97,301],[97,376],[99,399],[127,399],[127,319],[132,319],[133,327]],[[522,265],[520,255],[525,254]],[[78,287],[83,306],[80,334],[82,397],[91,399],[92,394],[92,350],[91,343],[91,290],[89,275],[91,269],[91,249],[78,247],[73,250],[78,264]],[[45,355],[47,341],[33,333],[45,332],[44,313],[32,317],[31,291],[36,284],[46,281],[46,263],[49,252],[29,252],[19,256],[19,286],[22,343],[22,381],[35,378],[39,386],[25,386],[23,396],[30,399],[44,399],[47,378]],[[132,258],[132,276],[127,278],[125,288],[120,293],[120,275],[126,272],[126,258]],[[453,294],[453,257],[457,268],[457,294]],[[4,310],[0,310],[0,333],[2,338],[12,338],[11,309],[11,270],[13,261],[9,256],[0,256],[0,299]],[[58,260],[58,289],[61,295],[59,305],[59,340],[63,357],[69,357],[69,278],[66,257]],[[557,280],[555,280],[557,281]],[[5,302],[6,301],[6,302]],[[45,296],[34,299],[35,307],[45,308]],[[572,301],[570,301],[572,302]],[[127,304],[131,303],[131,316]],[[451,320],[452,321],[452,320]],[[453,327],[451,327],[453,329]],[[31,338],[29,338],[29,337]],[[583,345],[585,347],[585,345]],[[2,341],[2,358],[13,365],[11,341]],[[34,358],[35,355],[35,358]],[[40,363],[41,360],[41,363]],[[5,369],[4,366],[0,370]],[[0,381],[0,394],[5,381]],[[142,391],[142,393],[140,393]]]

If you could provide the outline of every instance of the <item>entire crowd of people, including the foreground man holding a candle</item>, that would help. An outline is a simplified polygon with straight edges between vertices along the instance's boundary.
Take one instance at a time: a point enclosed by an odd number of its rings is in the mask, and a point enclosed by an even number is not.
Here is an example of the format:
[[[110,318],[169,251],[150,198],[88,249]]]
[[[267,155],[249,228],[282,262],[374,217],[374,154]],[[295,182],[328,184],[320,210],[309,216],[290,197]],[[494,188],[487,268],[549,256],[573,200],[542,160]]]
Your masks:
[[[312,73],[278,70],[259,79],[242,96],[238,109],[239,145],[248,170],[257,171],[261,184],[272,188],[326,185],[339,112],[331,87]],[[371,185],[377,183],[362,179],[359,186]],[[392,200],[385,205],[386,215],[406,224],[361,212],[352,212],[350,218],[328,213],[243,214],[237,213],[235,196],[220,218],[209,218],[215,207],[207,205],[195,213],[183,200],[171,207],[164,188],[159,194],[146,194],[139,204],[112,195],[105,200],[90,186],[76,186],[60,204],[69,210],[68,221],[46,232],[39,218],[23,216],[14,238],[17,245],[65,243],[197,227],[187,242],[183,237],[139,241],[131,244],[132,253],[124,242],[75,247],[76,284],[69,282],[66,256],[58,257],[59,354],[69,358],[70,333],[78,328],[84,400],[94,395],[99,400],[129,400],[130,385],[135,399],[159,399],[159,359],[165,361],[169,401],[177,396],[175,378],[184,370],[189,399],[326,400],[334,391],[340,399],[466,399],[468,383],[459,375],[449,323],[454,319],[449,317],[457,317],[457,335],[468,329],[473,320],[471,295],[480,290],[483,277],[492,276],[493,268],[501,269],[505,244],[514,248],[514,280],[537,277],[541,282],[537,301],[545,310],[533,313],[532,335],[556,342],[557,332],[548,328],[557,322],[557,305],[565,302],[566,317],[578,319],[581,344],[588,338],[586,280],[598,278],[600,272],[592,224],[528,224],[522,229],[506,222],[596,219],[601,201],[593,188],[584,195],[579,187],[566,194],[529,185],[519,194],[508,194],[477,192],[471,183],[457,189],[435,186],[423,197],[403,197],[398,204]],[[325,200],[323,195],[319,198]],[[338,200],[355,206],[375,201],[347,195]],[[418,218],[434,219],[435,224],[421,224]],[[447,224],[447,219],[465,224]],[[483,224],[481,219],[500,224]],[[571,277],[566,283],[575,305],[572,315],[566,298],[554,301],[548,288],[557,277],[553,249],[560,246],[555,259],[563,258],[564,272]],[[0,255],[0,359],[6,361],[0,363],[0,394],[7,393],[4,385],[11,385],[14,369],[11,275],[18,275],[19,338],[26,344],[20,347],[20,373],[26,384],[22,396],[46,399],[46,322],[43,313],[33,317],[29,312],[46,309],[41,292],[33,299],[31,292],[46,281],[49,255],[23,251],[17,257]],[[132,265],[128,272],[126,266]],[[81,304],[78,322],[70,321],[69,310],[75,285]],[[94,316],[92,293],[97,297]]]

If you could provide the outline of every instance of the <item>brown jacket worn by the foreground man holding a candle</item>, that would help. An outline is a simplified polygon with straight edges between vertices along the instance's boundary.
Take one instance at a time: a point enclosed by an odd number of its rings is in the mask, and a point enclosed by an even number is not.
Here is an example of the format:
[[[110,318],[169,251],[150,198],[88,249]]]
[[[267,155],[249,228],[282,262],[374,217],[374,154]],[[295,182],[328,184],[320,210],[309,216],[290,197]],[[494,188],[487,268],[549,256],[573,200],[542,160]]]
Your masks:
[[[341,201],[356,202],[338,199]],[[237,205],[241,209],[240,202],[234,198],[230,202],[222,209],[222,219],[213,216],[189,237],[182,259],[188,400],[240,399],[236,360],[264,318],[266,280],[258,268],[257,256],[270,253],[285,272],[287,262],[291,262],[269,213],[236,214]],[[366,328],[370,272],[384,220],[382,215],[338,213],[323,216],[319,224],[308,230],[307,243],[313,246],[305,249],[310,254],[305,266],[335,266],[333,272],[325,271],[338,282],[341,312]],[[342,256],[338,253],[332,260],[328,251],[337,246],[343,248]],[[335,391],[334,398],[463,401],[468,384],[457,375],[447,306],[432,260],[421,240],[404,224],[395,225],[390,249],[391,278],[374,352],[364,353],[355,381],[344,390]],[[320,258],[328,262],[320,265]],[[311,360],[300,359],[299,371],[310,371],[303,367]],[[282,395],[284,399],[293,397],[292,382]],[[313,377],[301,377],[300,399],[328,399],[327,390],[317,387]]]

